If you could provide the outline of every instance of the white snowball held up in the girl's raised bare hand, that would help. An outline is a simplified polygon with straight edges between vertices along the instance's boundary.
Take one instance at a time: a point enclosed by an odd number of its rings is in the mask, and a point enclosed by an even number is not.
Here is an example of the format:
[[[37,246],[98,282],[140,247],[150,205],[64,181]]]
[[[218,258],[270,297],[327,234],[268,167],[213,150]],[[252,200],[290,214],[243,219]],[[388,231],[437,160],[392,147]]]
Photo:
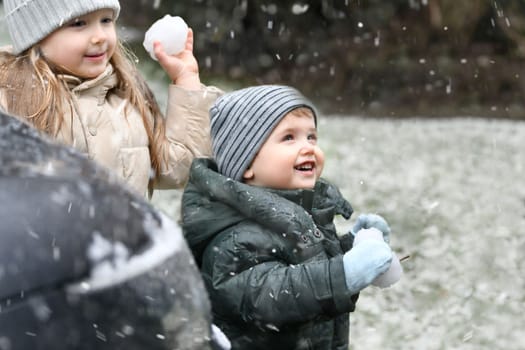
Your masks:
[[[146,31],[142,45],[156,61],[157,58],[153,52],[154,41],[160,41],[168,55],[176,55],[184,50],[187,37],[188,25],[186,22],[179,16],[165,15]]]

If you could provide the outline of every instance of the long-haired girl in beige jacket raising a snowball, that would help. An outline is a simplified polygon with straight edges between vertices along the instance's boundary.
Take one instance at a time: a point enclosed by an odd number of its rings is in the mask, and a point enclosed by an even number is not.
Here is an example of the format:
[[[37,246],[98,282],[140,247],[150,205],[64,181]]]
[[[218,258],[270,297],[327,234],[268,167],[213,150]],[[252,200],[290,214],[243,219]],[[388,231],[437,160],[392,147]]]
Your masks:
[[[154,50],[173,84],[164,118],[119,41],[118,0],[5,0],[13,42],[0,52],[0,104],[10,114],[114,170],[132,189],[185,184],[208,155],[208,109],[190,30],[185,50]]]

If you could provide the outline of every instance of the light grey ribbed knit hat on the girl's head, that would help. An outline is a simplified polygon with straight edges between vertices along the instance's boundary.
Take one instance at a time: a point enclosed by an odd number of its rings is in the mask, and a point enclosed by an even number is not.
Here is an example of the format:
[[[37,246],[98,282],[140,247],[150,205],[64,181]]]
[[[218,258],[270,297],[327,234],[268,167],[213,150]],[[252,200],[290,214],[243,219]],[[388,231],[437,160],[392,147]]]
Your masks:
[[[28,49],[75,17],[104,8],[118,17],[118,0],[4,0],[13,53]]]

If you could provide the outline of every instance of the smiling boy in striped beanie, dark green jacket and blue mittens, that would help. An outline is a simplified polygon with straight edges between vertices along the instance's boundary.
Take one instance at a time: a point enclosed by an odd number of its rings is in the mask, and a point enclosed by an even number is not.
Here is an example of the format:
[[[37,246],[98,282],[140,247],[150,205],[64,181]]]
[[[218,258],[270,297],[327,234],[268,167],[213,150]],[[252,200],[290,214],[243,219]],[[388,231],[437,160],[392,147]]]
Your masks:
[[[194,160],[182,211],[214,322],[232,349],[348,349],[348,313],[392,251],[338,238],[333,218],[352,207],[320,178],[315,108],[263,85],[220,97],[210,116],[214,160]]]

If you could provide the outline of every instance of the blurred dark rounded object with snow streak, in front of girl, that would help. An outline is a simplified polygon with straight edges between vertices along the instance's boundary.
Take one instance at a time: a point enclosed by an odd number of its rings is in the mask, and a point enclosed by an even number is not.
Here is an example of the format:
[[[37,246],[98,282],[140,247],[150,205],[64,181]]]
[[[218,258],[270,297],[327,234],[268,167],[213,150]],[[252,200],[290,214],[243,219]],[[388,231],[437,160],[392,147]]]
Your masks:
[[[0,350],[210,349],[180,228],[0,113]]]

